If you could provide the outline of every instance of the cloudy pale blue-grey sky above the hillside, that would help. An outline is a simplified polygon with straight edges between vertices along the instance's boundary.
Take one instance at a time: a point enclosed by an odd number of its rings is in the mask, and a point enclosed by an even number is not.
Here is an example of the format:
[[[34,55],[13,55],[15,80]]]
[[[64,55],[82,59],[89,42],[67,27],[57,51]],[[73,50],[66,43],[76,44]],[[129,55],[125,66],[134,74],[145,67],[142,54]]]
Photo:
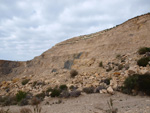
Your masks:
[[[0,59],[31,60],[58,42],[149,9],[150,0],[0,0]]]

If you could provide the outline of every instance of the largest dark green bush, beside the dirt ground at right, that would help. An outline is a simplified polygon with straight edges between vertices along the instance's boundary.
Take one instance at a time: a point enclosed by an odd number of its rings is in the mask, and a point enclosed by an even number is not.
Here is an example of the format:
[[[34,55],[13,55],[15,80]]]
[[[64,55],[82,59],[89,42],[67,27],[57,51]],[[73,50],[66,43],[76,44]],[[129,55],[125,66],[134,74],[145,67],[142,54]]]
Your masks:
[[[123,92],[131,94],[132,90],[142,91],[147,95],[150,95],[150,74],[134,74],[129,76],[124,81],[124,87],[122,88]]]

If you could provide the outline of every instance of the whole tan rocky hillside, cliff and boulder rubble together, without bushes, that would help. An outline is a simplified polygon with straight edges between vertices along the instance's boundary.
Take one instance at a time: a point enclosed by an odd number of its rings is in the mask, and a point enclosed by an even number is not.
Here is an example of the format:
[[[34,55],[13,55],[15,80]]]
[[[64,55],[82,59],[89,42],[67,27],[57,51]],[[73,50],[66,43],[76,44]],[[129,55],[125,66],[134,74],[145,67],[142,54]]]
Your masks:
[[[141,57],[137,50],[150,47],[149,31],[148,13],[111,29],[58,43],[31,61],[0,61],[2,94],[8,94],[8,88],[10,94],[18,90],[37,94],[61,84],[74,85],[79,89],[97,87],[107,78],[112,78],[111,87],[105,84],[106,89],[112,92],[132,72],[145,73],[149,70],[149,67],[136,65]],[[74,79],[70,77],[72,69],[78,72]],[[25,79],[29,82],[22,85]],[[33,87],[35,81],[42,85]]]

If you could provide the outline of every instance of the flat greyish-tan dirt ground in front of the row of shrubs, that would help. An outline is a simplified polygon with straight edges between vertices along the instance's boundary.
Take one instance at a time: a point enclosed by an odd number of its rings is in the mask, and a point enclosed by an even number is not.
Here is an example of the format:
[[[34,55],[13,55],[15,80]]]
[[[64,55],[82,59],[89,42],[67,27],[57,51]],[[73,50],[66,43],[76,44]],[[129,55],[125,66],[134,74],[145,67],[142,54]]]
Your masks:
[[[42,113],[105,113],[109,109],[107,101],[113,99],[114,108],[118,113],[150,113],[150,98],[147,96],[129,96],[117,92],[109,94],[84,94],[78,98],[59,99],[48,98],[42,102]],[[59,101],[62,101],[58,103]],[[45,105],[49,102],[49,105]],[[31,106],[24,106],[33,109]],[[18,113],[18,106],[5,107],[10,111]]]

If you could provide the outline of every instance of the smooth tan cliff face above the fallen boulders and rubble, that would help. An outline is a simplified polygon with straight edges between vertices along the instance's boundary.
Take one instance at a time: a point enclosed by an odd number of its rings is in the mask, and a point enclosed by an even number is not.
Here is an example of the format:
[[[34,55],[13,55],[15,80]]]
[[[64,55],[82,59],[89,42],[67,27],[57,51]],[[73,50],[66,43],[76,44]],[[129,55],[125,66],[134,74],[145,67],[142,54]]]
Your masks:
[[[51,76],[70,69],[97,71],[100,61],[113,60],[118,54],[130,53],[134,57],[138,48],[150,46],[149,31],[150,14],[145,14],[111,29],[63,41],[31,61],[0,61],[0,80],[24,75]]]

